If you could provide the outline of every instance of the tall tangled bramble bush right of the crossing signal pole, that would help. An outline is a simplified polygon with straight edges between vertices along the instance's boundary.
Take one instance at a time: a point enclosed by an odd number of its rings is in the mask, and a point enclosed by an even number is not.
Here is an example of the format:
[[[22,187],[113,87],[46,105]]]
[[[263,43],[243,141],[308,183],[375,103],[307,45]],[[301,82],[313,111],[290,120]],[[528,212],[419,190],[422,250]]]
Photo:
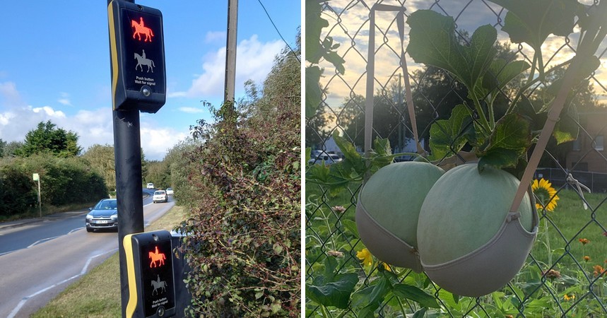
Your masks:
[[[204,140],[186,153],[197,194],[179,228],[189,316],[300,315],[300,64],[290,54],[278,56],[261,97],[210,107],[213,124],[193,129]]]

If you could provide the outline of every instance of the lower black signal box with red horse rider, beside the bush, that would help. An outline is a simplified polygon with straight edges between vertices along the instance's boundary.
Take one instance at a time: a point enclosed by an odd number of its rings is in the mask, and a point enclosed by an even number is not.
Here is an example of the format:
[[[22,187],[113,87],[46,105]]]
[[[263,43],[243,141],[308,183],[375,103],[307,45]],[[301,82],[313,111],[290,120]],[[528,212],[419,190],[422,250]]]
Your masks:
[[[129,234],[122,244],[129,277],[126,317],[175,316],[170,232]]]

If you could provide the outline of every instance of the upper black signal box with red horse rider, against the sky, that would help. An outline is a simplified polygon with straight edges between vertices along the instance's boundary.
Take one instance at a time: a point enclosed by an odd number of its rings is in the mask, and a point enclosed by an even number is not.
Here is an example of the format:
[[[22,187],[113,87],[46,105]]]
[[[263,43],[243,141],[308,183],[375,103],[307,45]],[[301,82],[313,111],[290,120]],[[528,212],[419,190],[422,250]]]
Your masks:
[[[163,13],[113,0],[107,16],[114,110],[158,112],[167,90]]]

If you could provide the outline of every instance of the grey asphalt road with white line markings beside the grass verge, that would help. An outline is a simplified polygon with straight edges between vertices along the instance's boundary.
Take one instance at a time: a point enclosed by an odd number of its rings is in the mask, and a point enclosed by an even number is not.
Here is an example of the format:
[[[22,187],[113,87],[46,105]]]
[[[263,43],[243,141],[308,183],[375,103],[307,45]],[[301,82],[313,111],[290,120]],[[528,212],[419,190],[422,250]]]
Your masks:
[[[167,204],[144,199],[144,223],[174,205],[172,198]],[[117,252],[118,233],[86,232],[86,212],[0,228],[0,317],[29,317]]]

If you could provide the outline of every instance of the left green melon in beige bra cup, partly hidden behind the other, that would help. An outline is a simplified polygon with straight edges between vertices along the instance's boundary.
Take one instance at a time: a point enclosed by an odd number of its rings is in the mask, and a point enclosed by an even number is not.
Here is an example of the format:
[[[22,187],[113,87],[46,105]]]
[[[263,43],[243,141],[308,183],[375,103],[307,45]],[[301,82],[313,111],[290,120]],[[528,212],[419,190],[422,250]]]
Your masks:
[[[360,192],[356,223],[360,239],[378,259],[420,271],[418,216],[432,185],[444,173],[430,163],[404,162],[375,172]]]

